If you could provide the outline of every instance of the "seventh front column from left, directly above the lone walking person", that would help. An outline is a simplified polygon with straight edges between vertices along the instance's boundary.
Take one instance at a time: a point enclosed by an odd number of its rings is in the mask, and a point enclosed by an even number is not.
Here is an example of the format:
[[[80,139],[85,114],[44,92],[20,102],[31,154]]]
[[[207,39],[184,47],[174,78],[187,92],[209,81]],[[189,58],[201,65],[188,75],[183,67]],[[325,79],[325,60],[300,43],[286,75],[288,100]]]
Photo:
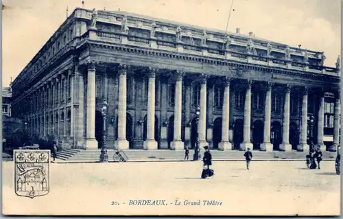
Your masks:
[[[248,81],[246,89],[246,100],[244,102],[244,125],[243,125],[243,142],[239,145],[239,150],[252,149],[250,142],[250,123],[251,123],[251,85],[252,82]]]

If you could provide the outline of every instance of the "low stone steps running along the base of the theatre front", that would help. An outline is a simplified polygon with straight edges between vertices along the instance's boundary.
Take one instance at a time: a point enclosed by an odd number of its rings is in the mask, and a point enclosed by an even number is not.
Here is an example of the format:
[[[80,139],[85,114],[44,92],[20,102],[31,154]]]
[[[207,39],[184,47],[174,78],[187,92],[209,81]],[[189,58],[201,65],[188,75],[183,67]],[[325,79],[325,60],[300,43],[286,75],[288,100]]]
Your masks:
[[[185,157],[184,150],[123,150],[128,161],[183,161]],[[81,149],[66,149],[57,152],[57,158],[66,162],[96,162],[99,161],[99,149],[81,150]],[[115,150],[108,149],[108,161],[114,161]],[[201,152],[203,154],[203,152]],[[238,150],[211,150],[213,161],[244,161],[243,151]],[[252,151],[252,159],[262,161],[283,161],[283,160],[298,160],[305,161],[307,152],[262,152]],[[322,152],[323,160],[335,160],[337,152]],[[189,151],[189,160],[193,159],[193,151]]]

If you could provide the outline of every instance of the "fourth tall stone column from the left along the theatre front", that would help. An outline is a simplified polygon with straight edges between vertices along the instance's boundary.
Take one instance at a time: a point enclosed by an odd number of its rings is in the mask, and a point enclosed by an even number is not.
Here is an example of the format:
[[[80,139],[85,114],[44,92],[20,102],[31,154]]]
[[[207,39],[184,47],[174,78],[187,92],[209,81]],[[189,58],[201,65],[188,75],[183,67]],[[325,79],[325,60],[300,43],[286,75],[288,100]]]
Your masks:
[[[175,106],[174,106],[174,139],[170,143],[171,150],[183,150],[184,143],[181,140],[182,130],[182,77],[181,71],[176,71]]]

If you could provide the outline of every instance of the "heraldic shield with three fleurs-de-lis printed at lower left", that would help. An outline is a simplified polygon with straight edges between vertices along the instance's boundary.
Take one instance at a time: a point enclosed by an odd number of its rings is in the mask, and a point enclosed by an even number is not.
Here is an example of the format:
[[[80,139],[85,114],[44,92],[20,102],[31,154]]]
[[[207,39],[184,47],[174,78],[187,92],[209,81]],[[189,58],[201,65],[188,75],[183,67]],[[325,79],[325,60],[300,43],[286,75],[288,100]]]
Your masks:
[[[50,150],[14,150],[14,190],[34,198],[49,193]]]

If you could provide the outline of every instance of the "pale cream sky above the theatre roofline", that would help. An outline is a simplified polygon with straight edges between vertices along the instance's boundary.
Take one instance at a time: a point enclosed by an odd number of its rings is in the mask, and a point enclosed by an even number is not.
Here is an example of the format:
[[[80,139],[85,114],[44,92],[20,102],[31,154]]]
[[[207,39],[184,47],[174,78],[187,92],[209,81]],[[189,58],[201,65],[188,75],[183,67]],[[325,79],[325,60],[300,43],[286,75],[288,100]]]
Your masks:
[[[84,8],[127,11],[202,27],[226,29],[232,0],[84,0]],[[16,78],[82,0],[3,0],[3,86]],[[340,0],[234,0],[229,32],[241,28],[304,49],[340,54]]]

